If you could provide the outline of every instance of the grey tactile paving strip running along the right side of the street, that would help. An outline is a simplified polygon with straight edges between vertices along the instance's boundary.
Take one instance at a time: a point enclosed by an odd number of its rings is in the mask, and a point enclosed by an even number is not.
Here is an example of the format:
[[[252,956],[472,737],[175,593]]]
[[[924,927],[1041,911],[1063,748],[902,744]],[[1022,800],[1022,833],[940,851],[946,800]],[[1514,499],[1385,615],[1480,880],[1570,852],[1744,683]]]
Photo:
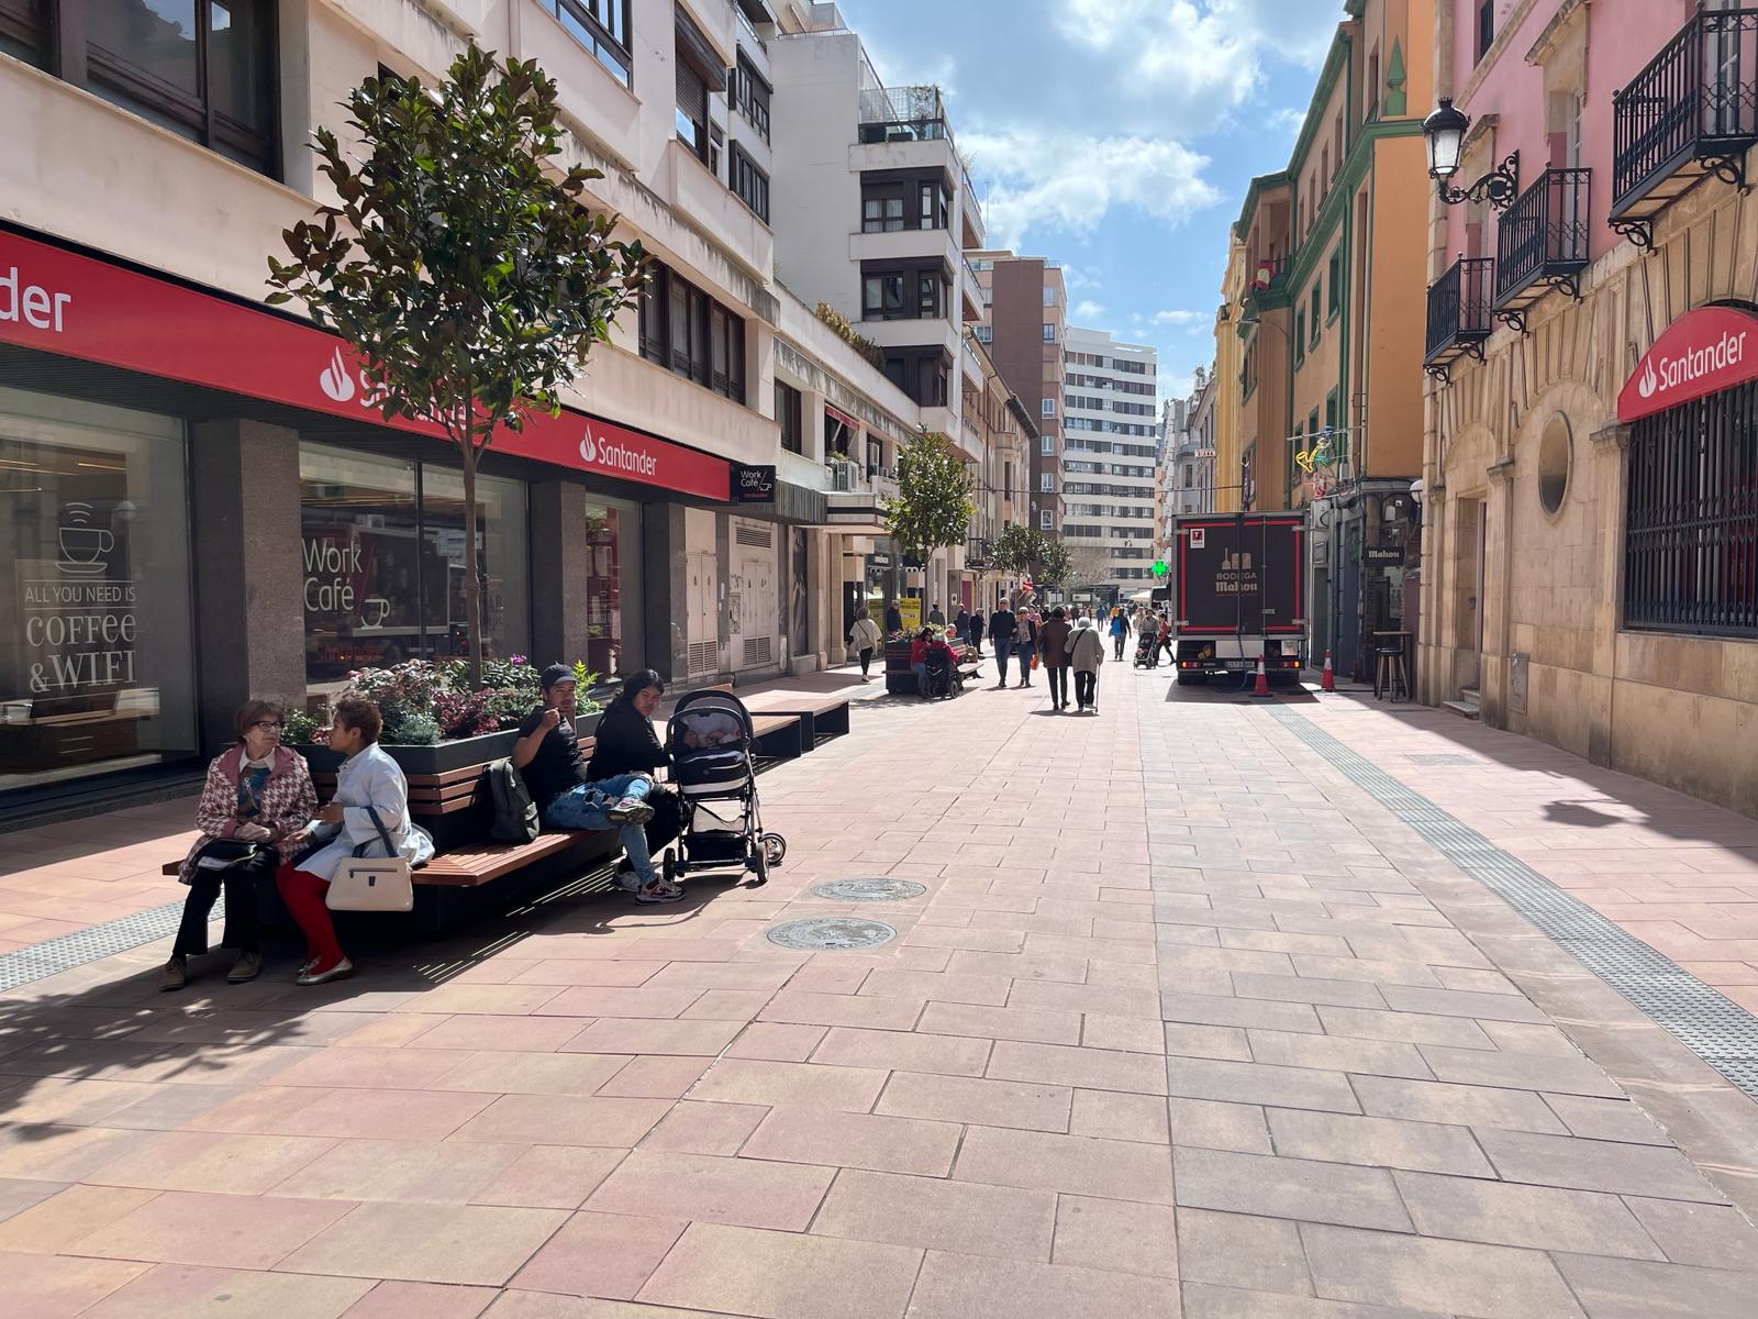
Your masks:
[[[1269,714],[1577,962],[1758,1099],[1758,1017],[1285,707]],[[1412,756],[1415,760],[1415,756]]]

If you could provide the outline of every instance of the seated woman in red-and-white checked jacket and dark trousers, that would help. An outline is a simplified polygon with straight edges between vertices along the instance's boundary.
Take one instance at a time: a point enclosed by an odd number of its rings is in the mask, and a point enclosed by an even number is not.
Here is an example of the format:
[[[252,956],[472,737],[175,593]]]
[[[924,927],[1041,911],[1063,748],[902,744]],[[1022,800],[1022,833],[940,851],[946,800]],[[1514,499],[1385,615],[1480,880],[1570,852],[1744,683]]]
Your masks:
[[[257,930],[257,879],[272,876],[283,846],[318,809],[306,760],[281,746],[281,712],[253,700],[237,712],[239,746],[214,756],[195,805],[202,835],[183,858],[178,878],[190,886],[183,923],[160,974],[162,990],[190,981],[190,957],[207,951],[207,916],[225,888],[223,948],[237,950],[227,980],[243,985],[262,971]]]

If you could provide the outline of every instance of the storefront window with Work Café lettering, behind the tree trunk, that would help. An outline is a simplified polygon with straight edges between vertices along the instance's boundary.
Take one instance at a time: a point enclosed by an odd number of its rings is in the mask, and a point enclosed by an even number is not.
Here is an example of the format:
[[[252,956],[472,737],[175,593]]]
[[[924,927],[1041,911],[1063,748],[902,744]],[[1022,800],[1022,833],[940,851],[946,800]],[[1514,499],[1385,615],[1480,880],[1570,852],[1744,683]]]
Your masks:
[[[336,691],[355,668],[469,652],[464,536],[471,533],[483,580],[483,654],[529,647],[522,482],[478,475],[475,517],[466,519],[455,470],[301,445],[299,506],[313,695]]]

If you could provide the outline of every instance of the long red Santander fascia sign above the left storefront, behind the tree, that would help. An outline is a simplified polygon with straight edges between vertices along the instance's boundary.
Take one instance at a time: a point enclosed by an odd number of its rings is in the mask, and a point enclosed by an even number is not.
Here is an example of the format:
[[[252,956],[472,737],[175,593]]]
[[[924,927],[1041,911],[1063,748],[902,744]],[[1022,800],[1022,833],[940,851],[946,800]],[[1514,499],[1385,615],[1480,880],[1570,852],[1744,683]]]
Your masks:
[[[387,422],[353,353],[315,325],[9,230],[0,230],[0,343],[441,434],[429,422]],[[730,496],[726,459],[582,412],[536,413],[494,448],[716,503]]]

